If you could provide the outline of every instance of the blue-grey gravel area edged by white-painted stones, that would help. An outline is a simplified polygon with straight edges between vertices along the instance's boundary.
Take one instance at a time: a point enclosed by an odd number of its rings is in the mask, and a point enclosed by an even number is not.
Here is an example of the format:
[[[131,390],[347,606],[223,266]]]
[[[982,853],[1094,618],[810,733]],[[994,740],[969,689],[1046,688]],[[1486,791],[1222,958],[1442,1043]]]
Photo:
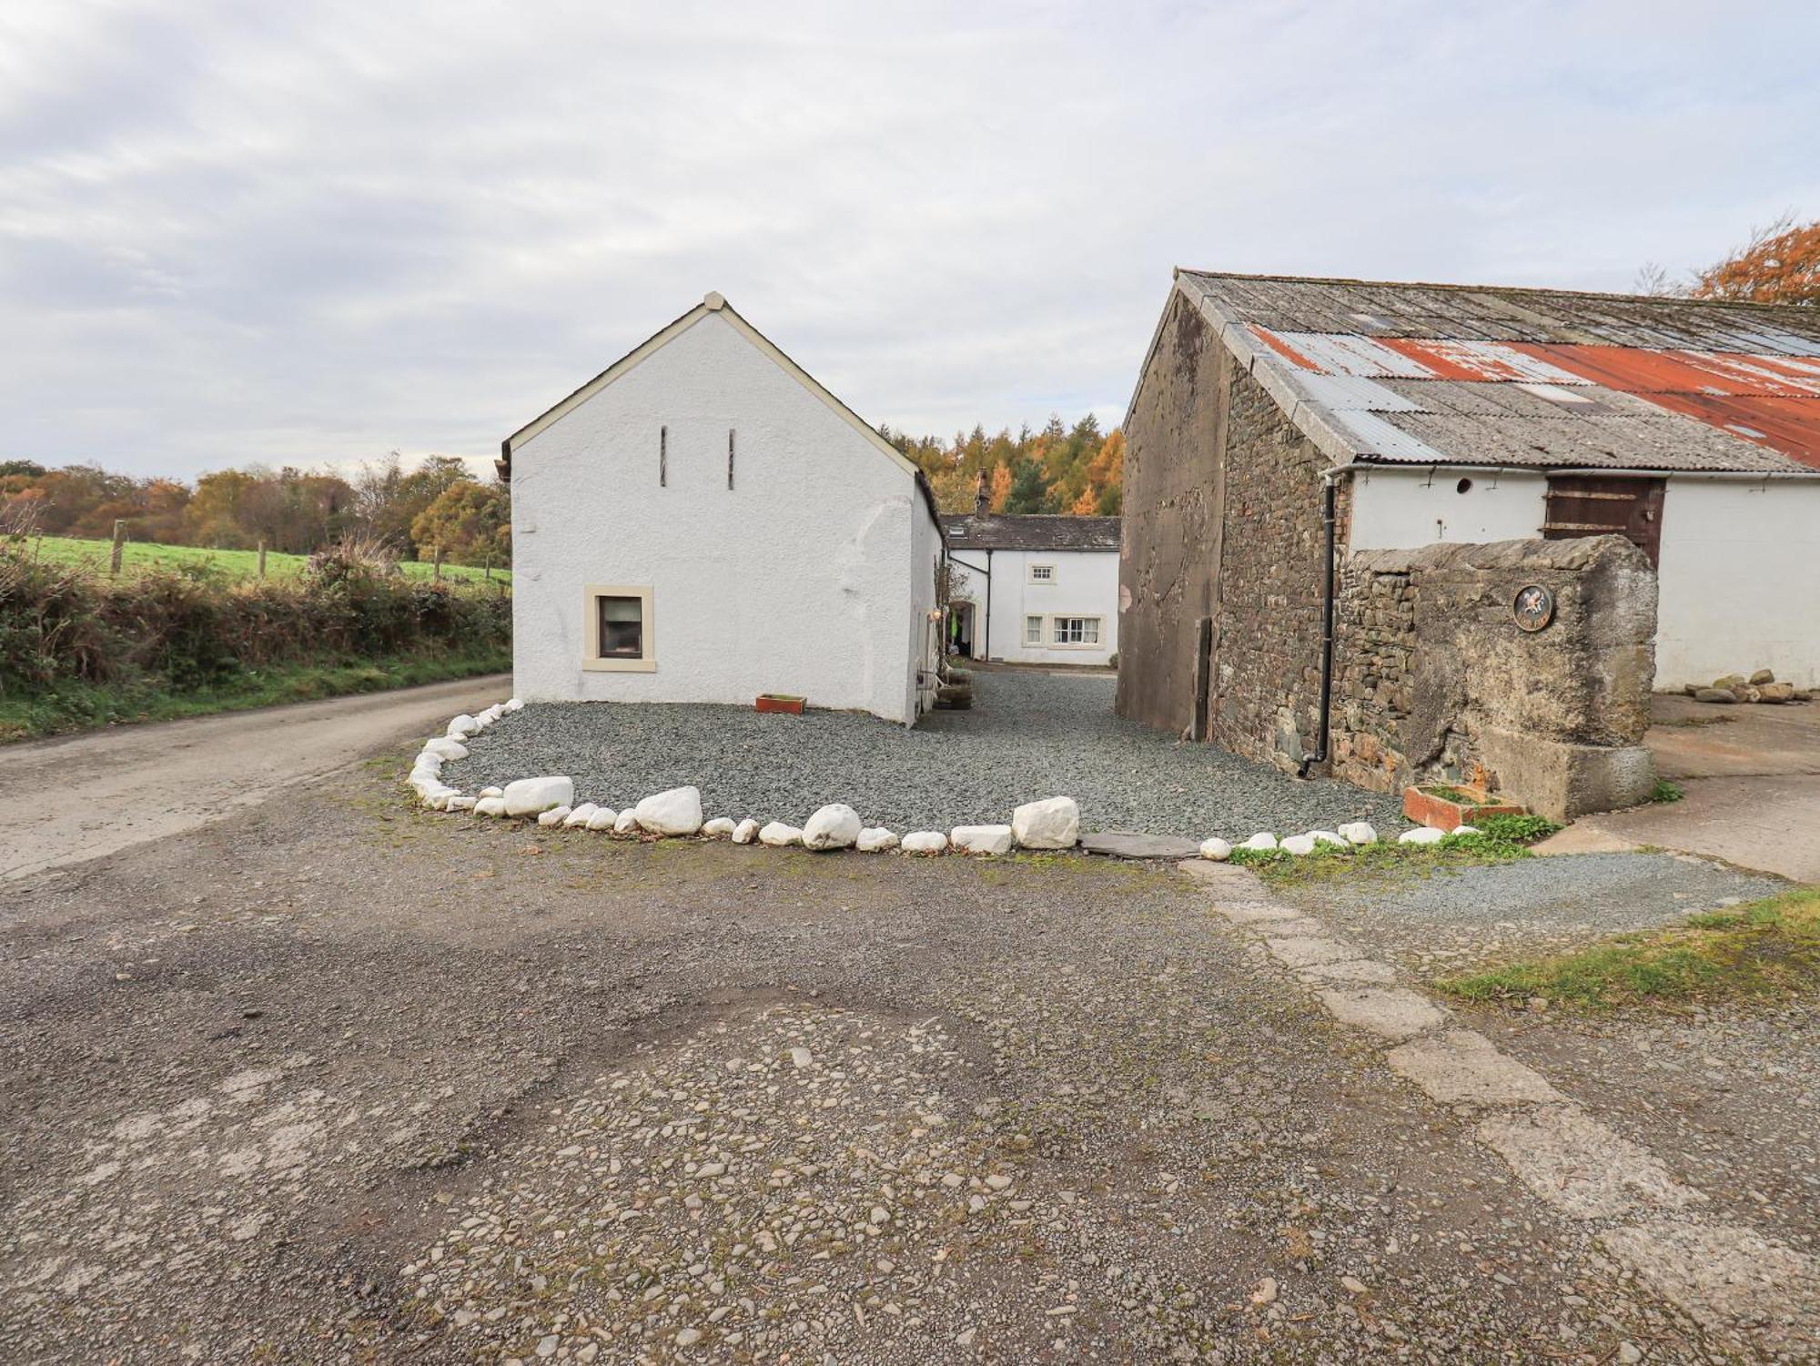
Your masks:
[[[1349,820],[1405,827],[1398,800],[1298,781],[1214,745],[1185,743],[1112,714],[1114,679],[977,672],[970,712],[915,729],[850,712],[761,716],[746,707],[537,703],[477,736],[444,769],[464,790],[568,774],[615,810],[693,783],[712,816],[799,825],[846,801],[895,831],[1005,821],[1021,801],[1072,796],[1085,831],[1290,834]]]

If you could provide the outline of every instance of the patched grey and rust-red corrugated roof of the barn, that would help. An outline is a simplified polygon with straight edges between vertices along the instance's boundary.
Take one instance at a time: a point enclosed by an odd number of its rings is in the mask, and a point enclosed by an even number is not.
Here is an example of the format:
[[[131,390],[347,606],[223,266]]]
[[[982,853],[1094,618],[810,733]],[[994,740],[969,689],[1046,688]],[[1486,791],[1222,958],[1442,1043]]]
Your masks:
[[[1179,271],[1336,459],[1820,470],[1820,310]]]

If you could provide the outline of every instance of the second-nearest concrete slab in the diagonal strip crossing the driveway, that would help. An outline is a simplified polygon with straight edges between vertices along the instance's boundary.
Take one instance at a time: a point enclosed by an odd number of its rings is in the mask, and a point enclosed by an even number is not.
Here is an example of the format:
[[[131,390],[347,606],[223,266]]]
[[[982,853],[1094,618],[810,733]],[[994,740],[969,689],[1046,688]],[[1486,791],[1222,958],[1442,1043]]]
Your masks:
[[[1634,1218],[1705,1200],[1669,1177],[1647,1149],[1576,1106],[1494,1115],[1478,1126],[1478,1140],[1509,1162],[1529,1189],[1574,1218]]]

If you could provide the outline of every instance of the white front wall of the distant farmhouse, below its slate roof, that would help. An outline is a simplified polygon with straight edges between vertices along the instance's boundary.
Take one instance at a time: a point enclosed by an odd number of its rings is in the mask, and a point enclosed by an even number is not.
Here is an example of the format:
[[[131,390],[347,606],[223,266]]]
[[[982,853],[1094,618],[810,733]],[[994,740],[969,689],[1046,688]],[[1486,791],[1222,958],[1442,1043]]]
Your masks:
[[[954,597],[974,603],[974,658],[1023,665],[1105,665],[1119,648],[1117,550],[994,550],[990,639],[986,579],[966,565],[985,566],[985,550],[954,552]],[[1048,583],[1030,579],[1032,565],[1054,565]],[[1043,617],[1043,645],[1025,645],[1025,617]],[[1054,617],[1099,617],[1099,645],[1054,645]]]

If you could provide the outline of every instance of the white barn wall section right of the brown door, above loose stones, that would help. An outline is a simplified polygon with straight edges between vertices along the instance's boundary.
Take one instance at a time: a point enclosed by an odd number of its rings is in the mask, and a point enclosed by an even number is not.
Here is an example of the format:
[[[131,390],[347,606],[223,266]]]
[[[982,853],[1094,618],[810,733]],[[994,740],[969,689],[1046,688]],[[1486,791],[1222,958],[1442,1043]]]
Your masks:
[[[1820,687],[1820,481],[1671,477],[1658,585],[1658,688],[1756,668]]]

